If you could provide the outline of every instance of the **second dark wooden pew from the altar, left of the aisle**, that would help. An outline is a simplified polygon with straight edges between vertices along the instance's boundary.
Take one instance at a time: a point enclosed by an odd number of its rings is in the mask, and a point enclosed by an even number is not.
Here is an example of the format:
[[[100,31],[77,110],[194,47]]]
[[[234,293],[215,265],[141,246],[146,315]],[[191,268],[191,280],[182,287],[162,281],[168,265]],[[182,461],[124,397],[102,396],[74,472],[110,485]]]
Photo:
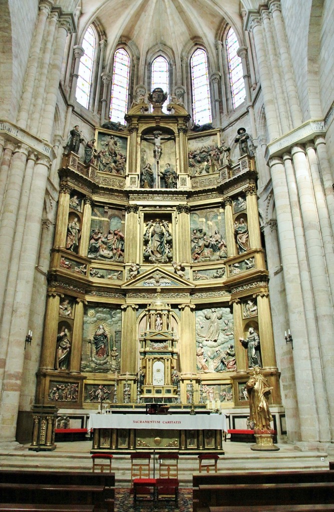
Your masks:
[[[103,485],[0,483],[0,494],[10,503],[93,505],[95,512],[113,512],[114,508],[114,500],[106,498]]]

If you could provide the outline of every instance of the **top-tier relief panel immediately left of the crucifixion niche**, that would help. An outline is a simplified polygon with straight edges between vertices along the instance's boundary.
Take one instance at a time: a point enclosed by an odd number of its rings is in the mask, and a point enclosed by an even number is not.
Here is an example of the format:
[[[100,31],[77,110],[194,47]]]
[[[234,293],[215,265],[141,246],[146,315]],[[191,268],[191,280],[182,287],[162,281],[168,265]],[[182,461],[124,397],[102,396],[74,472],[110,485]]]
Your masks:
[[[96,132],[95,137],[99,171],[125,176],[128,138],[100,130]]]

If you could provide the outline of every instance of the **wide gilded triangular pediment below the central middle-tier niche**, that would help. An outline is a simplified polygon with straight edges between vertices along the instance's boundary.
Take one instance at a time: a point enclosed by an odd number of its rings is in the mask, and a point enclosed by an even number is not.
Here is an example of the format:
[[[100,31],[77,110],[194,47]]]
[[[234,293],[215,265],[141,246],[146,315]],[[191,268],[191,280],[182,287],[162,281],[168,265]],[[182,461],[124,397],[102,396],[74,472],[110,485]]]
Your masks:
[[[184,288],[191,287],[193,284],[187,279],[180,277],[174,272],[162,269],[158,265],[139,273],[133,279],[124,283],[122,288]]]

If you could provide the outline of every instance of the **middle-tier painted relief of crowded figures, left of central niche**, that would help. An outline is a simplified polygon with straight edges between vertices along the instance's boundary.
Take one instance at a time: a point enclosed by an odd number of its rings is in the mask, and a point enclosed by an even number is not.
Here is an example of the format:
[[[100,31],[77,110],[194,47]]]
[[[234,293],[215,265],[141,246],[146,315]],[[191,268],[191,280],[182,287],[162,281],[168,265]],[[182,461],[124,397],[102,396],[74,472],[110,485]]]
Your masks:
[[[88,258],[124,262],[124,214],[120,210],[93,206]]]

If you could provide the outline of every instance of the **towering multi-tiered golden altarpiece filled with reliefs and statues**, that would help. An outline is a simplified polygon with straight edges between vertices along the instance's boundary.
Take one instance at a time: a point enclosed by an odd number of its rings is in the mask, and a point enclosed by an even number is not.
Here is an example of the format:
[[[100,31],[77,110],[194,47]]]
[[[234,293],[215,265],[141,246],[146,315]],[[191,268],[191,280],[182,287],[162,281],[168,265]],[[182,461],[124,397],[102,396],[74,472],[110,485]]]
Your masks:
[[[123,131],[96,129],[86,163],[64,154],[36,403],[208,408],[246,428],[259,364],[279,418],[247,134],[230,153],[219,129],[191,131],[182,104],[149,96]]]

